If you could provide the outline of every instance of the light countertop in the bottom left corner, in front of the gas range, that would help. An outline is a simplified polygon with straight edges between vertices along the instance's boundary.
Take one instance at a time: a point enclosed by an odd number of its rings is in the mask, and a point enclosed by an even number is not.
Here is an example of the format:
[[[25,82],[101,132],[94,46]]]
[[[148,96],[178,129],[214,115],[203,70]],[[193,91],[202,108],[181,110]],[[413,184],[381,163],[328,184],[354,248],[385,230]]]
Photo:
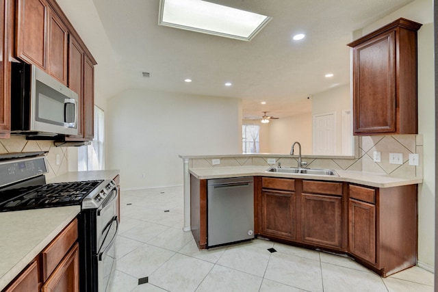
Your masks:
[[[79,214],[80,206],[0,213],[0,289]]]

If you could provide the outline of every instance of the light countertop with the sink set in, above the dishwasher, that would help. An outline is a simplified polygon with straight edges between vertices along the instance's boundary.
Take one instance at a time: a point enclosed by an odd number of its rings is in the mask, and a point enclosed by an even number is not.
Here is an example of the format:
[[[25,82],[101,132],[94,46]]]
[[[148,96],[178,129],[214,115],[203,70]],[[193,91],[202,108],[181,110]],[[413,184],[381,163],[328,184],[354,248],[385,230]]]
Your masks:
[[[370,187],[398,187],[401,185],[415,185],[422,183],[422,178],[403,178],[370,172],[352,170],[335,170],[339,176],[287,174],[281,172],[266,172],[267,166],[230,166],[218,168],[190,168],[190,174],[198,179],[227,178],[237,176],[272,176],[283,178],[315,179],[320,181],[342,181],[357,183]]]

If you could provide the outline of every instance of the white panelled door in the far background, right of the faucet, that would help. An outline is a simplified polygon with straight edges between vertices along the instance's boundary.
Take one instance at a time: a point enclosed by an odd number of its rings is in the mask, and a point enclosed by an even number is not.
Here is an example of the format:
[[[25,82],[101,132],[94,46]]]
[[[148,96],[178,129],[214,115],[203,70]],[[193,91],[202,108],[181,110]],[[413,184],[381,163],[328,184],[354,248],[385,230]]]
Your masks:
[[[336,113],[313,116],[313,155],[336,153]]]

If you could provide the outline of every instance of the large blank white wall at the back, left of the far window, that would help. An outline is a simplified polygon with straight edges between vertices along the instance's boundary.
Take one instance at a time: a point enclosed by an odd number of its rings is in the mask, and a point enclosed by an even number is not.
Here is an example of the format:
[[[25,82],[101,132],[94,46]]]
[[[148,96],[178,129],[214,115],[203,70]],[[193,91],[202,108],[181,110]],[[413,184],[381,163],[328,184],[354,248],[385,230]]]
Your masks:
[[[178,155],[242,152],[240,104],[149,90],[118,94],[105,111],[106,168],[120,170],[123,189],[182,185]]]

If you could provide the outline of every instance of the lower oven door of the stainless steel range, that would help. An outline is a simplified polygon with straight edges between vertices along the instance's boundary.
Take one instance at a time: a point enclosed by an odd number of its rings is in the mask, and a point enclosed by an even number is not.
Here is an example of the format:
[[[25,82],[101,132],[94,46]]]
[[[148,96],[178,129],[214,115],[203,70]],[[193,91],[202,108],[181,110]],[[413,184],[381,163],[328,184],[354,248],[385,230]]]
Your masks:
[[[110,280],[116,269],[116,237],[118,219],[114,216],[110,225],[105,229],[105,239],[97,256],[97,274],[99,291],[110,291]]]

